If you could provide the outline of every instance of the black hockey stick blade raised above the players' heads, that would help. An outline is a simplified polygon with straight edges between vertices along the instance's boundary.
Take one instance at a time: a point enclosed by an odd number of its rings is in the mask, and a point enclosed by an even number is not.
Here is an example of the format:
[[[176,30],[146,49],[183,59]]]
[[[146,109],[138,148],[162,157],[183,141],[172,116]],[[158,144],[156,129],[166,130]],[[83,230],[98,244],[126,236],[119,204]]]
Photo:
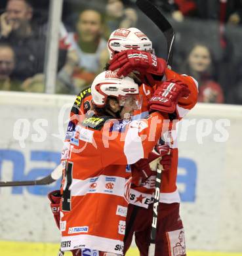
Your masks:
[[[165,35],[165,39],[167,40],[167,64],[171,67],[175,34],[170,22],[150,1],[136,0],[136,5]]]

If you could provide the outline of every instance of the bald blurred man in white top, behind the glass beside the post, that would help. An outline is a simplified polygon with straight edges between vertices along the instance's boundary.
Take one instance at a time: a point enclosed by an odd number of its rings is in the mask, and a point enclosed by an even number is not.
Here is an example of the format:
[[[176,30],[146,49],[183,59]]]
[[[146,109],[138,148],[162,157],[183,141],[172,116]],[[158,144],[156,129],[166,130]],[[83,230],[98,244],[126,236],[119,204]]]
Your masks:
[[[71,53],[58,77],[73,83],[75,92],[89,86],[108,60],[107,42],[102,38],[104,20],[94,9],[86,9],[79,14],[77,33],[69,34]],[[65,78],[64,78],[65,77]]]

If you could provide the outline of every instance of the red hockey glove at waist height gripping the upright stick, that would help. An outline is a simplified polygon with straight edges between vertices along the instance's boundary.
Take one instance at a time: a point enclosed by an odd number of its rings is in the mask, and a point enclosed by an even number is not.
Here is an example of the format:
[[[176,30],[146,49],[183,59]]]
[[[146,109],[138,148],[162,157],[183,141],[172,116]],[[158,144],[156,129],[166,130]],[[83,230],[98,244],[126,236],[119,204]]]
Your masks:
[[[148,158],[140,159],[136,163],[132,164],[132,184],[140,186],[140,184],[144,183],[151,175],[155,175],[157,167],[164,171],[170,169],[170,152],[171,148],[169,148],[167,145],[157,146],[157,152],[153,150],[150,152]]]

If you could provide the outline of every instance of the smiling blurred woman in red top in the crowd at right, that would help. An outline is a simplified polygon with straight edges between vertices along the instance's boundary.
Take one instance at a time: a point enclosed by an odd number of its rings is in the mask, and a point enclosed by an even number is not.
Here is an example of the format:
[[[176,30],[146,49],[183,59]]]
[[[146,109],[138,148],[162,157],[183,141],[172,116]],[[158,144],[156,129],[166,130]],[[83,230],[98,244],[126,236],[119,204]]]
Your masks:
[[[192,75],[199,84],[199,102],[223,103],[222,88],[212,77],[212,54],[207,45],[196,43],[188,51],[187,58],[182,65],[182,74]]]

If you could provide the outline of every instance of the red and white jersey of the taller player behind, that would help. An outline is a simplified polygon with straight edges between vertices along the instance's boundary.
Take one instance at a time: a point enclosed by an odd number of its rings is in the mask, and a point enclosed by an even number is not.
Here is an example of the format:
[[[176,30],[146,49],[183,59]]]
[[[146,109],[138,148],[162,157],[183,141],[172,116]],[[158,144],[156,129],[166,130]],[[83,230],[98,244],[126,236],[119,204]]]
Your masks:
[[[197,95],[198,95],[198,84],[193,77],[188,75],[180,75],[172,70],[165,71],[165,75],[163,77],[163,81],[168,79],[177,79],[184,81],[186,85],[188,85],[188,89],[190,89],[191,93],[188,98],[180,98],[178,104],[176,106],[176,121],[182,119],[188,112],[195,106],[197,103]],[[137,114],[136,117],[140,118],[146,117],[148,115],[148,108],[147,102],[149,98],[153,94],[153,90],[156,89],[156,86],[148,87],[147,85],[142,85],[140,87],[142,92],[140,94],[143,95],[144,105],[142,105],[142,113]],[[135,116],[134,116],[135,118]],[[163,171],[161,174],[162,181],[161,181],[161,194],[160,194],[160,202],[163,203],[180,203],[180,196],[178,193],[178,189],[176,186],[176,177],[177,177],[177,169],[178,169],[178,145],[177,145],[177,131],[176,131],[176,121],[172,123],[169,122],[169,131],[164,133],[163,139],[165,140],[165,144],[169,145],[172,150],[172,163],[171,169],[169,171]],[[148,208],[148,205],[152,203],[153,198],[153,186],[154,186],[154,179],[155,177],[150,177],[145,184],[141,186],[131,186],[131,196],[130,196],[130,203],[134,205],[138,205],[141,207]]]

